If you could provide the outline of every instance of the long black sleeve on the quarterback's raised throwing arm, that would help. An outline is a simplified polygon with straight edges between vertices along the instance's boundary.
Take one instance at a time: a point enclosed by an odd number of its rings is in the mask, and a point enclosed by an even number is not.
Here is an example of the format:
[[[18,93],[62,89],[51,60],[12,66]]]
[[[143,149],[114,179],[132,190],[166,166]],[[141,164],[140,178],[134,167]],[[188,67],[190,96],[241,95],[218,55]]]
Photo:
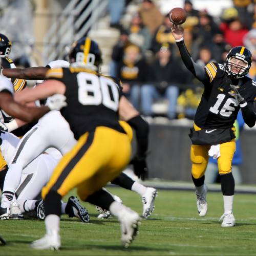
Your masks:
[[[205,73],[205,69],[197,64],[193,58],[190,56],[185,44],[184,40],[176,42],[181,58],[186,66],[186,68],[200,81],[207,82],[209,79]]]

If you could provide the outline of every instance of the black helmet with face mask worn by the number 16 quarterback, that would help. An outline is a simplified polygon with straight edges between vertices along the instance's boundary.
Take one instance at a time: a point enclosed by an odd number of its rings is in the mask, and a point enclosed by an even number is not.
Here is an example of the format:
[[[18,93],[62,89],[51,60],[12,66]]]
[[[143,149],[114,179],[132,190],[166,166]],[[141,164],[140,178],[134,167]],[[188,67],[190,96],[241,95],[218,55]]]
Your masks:
[[[231,58],[236,58],[242,60],[245,63],[245,66],[232,63]],[[252,55],[251,52],[244,46],[236,46],[232,48],[227,54],[226,61],[224,63],[225,71],[230,76],[231,79],[238,79],[248,74],[251,67]],[[238,72],[232,72],[233,68],[237,68]]]

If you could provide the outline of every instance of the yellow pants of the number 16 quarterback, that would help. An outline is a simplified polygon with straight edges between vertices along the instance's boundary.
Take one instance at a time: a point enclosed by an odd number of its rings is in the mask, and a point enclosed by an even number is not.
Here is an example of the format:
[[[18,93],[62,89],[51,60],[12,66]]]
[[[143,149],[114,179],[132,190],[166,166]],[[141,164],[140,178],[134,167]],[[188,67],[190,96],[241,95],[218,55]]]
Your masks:
[[[194,123],[194,129],[196,131],[201,130],[199,126]],[[234,127],[232,130],[235,131]],[[191,145],[190,148],[190,160],[192,162],[191,173],[195,179],[199,179],[203,177],[208,160],[209,155],[208,151],[210,149],[210,145]],[[231,172],[232,159],[234,152],[236,151],[236,141],[232,139],[229,142],[220,144],[220,154],[221,156],[217,159],[218,161],[218,169],[220,174],[228,174]]]

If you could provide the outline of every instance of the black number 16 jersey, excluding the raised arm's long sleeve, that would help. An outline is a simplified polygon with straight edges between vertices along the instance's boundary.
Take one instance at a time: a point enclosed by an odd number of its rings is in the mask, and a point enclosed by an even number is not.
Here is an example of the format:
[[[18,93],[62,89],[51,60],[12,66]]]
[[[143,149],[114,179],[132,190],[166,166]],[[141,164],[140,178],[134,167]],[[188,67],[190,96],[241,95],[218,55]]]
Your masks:
[[[219,63],[210,62],[204,69],[208,79],[203,81],[205,90],[197,109],[195,123],[201,128],[231,127],[240,109],[239,102],[228,94],[231,91],[230,84],[234,81]],[[253,103],[256,97],[256,82],[249,77],[240,78],[236,82],[245,101]]]

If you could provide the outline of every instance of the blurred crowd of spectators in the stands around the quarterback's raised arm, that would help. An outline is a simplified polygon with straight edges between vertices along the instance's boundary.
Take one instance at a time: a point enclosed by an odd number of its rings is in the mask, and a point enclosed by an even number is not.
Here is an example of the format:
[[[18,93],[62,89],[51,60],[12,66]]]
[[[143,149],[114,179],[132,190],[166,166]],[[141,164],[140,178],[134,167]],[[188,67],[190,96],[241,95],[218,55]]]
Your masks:
[[[119,2],[124,8],[125,1]],[[124,94],[145,116],[193,118],[203,88],[182,63],[168,13],[160,12],[157,1],[138,4],[129,25],[120,26],[121,15],[111,22],[120,30],[120,37],[112,50],[110,75],[122,80]],[[196,10],[189,0],[183,8],[187,12],[182,25],[185,44],[197,63],[223,63],[232,47],[245,46],[253,54],[249,76],[256,78],[255,0],[233,0],[233,7],[224,9],[219,17]],[[159,100],[167,104],[164,113],[154,111]]]

